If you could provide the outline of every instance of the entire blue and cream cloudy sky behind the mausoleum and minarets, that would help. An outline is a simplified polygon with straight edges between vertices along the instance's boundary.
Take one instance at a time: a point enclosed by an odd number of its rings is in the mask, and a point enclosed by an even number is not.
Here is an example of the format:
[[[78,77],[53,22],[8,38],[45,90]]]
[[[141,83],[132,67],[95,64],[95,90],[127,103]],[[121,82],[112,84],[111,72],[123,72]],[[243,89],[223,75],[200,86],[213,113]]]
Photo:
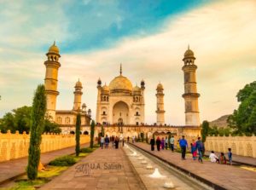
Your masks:
[[[157,83],[165,88],[166,124],[184,124],[183,53],[198,66],[201,121],[233,112],[236,93],[256,79],[256,1],[0,0],[0,117],[32,104],[44,60],[61,50],[57,109],[72,109],[73,86],[96,113],[96,81],[119,74],[146,83],[146,123],[155,122]]]

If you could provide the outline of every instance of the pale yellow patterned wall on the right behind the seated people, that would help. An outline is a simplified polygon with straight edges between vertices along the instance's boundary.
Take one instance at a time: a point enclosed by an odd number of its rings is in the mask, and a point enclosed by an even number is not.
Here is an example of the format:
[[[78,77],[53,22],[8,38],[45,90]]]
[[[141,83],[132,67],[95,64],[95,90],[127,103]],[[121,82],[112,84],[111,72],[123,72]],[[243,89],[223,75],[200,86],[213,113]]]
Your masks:
[[[256,158],[256,136],[207,136],[205,148],[207,151],[232,153],[240,156]]]

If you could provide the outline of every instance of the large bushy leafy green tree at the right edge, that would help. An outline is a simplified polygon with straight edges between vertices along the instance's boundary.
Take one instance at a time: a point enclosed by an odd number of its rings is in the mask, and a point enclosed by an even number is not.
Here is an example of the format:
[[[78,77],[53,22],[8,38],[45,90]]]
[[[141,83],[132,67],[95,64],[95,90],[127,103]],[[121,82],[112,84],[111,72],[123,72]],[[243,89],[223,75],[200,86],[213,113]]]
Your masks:
[[[256,134],[256,81],[245,85],[236,97],[240,105],[228,118],[229,126],[235,134]]]

